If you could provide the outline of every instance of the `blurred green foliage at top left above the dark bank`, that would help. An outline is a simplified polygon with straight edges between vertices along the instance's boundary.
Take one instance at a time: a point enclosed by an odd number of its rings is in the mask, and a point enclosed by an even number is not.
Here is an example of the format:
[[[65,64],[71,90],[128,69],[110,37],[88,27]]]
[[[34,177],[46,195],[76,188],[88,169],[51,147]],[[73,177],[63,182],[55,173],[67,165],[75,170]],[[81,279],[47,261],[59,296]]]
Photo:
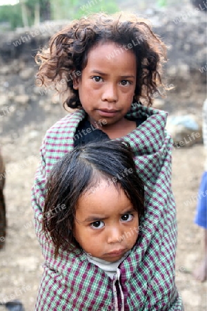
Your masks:
[[[14,6],[0,6],[0,23],[9,22],[12,29],[32,26],[39,11],[39,21],[46,19],[79,19],[92,12],[114,13],[119,10],[117,1],[104,0],[20,0]],[[3,24],[2,24],[3,25]],[[2,28],[1,28],[2,29]]]

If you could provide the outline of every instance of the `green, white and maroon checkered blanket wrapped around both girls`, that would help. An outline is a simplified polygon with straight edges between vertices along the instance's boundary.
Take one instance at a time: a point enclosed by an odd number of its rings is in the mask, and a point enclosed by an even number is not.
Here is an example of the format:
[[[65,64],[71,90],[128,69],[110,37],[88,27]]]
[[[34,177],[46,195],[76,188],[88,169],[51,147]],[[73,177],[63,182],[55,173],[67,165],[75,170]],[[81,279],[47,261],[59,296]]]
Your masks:
[[[79,110],[57,122],[41,147],[41,164],[32,189],[35,229],[44,257],[38,311],[115,310],[110,277],[89,263],[80,249],[74,254],[61,249],[55,259],[52,243],[41,233],[46,177],[55,162],[72,150],[75,130],[85,115]],[[172,140],[165,131],[167,113],[133,104],[128,117],[142,116],[147,120],[124,137],[135,152],[137,171],[146,185],[146,215],[138,241],[119,265],[124,310],[181,311],[175,286],[177,224],[171,189]]]

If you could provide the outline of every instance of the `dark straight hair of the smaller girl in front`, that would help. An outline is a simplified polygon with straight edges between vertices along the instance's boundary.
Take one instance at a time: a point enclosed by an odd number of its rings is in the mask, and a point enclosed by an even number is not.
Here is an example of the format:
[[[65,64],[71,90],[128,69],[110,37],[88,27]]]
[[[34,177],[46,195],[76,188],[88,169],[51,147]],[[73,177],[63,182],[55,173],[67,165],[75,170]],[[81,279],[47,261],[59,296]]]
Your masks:
[[[57,162],[46,184],[43,231],[59,248],[75,249],[73,236],[77,201],[101,180],[124,189],[138,213],[144,216],[144,183],[139,178],[130,145],[121,140],[92,142],[76,147]]]

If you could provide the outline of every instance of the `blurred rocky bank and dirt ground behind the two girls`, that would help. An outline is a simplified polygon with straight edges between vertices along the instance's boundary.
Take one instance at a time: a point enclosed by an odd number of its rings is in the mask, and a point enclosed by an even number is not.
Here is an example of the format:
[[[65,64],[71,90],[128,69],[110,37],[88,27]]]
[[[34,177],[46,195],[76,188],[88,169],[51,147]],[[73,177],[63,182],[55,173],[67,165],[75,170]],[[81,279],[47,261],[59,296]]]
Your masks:
[[[155,95],[153,106],[168,111],[167,129],[175,142],[177,287],[185,311],[206,310],[206,282],[193,278],[204,249],[204,232],[193,220],[204,170],[201,109],[206,98],[206,8],[203,0],[0,0],[0,149],[6,164],[0,180],[6,177],[7,220],[6,236],[0,234],[0,303],[19,299],[26,311],[34,309],[43,257],[34,235],[30,189],[43,136],[67,113],[52,90],[35,86],[34,56],[72,19],[90,12],[123,11],[149,19],[168,45],[164,77],[172,90],[166,97]]]

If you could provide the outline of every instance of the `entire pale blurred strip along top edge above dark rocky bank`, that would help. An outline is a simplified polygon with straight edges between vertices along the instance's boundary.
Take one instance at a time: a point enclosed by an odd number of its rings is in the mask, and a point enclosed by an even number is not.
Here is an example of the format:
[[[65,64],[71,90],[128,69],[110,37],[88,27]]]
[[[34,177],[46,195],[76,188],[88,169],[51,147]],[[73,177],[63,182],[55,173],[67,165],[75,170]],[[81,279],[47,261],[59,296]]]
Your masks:
[[[205,10],[205,1],[192,0],[202,10]],[[130,12],[151,12],[164,8],[175,8],[186,6],[189,0],[157,0],[157,1],[133,1],[127,3],[123,0],[102,1],[102,0],[1,0],[0,22],[2,30],[10,30],[19,27],[39,25],[46,20],[77,19],[83,13],[105,11],[114,13],[119,10]],[[200,7],[199,7],[200,5]],[[87,11],[87,12],[86,12]]]

